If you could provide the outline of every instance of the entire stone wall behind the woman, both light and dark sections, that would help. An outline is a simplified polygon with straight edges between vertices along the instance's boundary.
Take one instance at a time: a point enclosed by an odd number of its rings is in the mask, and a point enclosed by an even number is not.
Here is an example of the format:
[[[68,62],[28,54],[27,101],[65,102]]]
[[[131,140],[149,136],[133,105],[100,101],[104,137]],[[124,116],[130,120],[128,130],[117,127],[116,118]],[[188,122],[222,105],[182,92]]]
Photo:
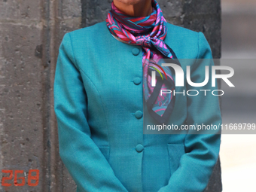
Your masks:
[[[221,56],[220,0],[158,0],[169,23],[201,31]],[[39,169],[36,187],[0,191],[75,191],[58,154],[53,80],[63,35],[105,20],[111,1],[0,2],[0,169]],[[0,178],[2,178],[0,172]],[[6,175],[5,175],[6,176]],[[206,191],[221,191],[218,162]]]

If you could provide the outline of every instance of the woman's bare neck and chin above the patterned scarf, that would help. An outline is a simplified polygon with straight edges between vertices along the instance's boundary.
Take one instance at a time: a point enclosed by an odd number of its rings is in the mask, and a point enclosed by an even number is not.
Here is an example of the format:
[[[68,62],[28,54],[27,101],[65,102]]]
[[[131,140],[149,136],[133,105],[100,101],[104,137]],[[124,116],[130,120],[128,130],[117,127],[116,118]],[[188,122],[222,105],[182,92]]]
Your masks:
[[[113,0],[114,5],[131,17],[147,17],[153,11],[151,0]]]

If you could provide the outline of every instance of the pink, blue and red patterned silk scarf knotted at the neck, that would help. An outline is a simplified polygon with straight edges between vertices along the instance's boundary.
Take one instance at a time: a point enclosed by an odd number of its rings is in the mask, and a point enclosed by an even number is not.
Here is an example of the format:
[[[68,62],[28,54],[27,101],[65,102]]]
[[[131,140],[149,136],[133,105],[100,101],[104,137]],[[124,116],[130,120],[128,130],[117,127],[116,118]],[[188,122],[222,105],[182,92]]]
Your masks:
[[[175,84],[169,67],[162,67],[164,59],[180,66],[173,50],[163,41],[167,34],[166,20],[155,0],[151,2],[153,11],[148,17],[131,17],[111,3],[106,23],[115,38],[127,44],[142,46],[143,93],[151,117],[158,123],[165,123],[175,103],[173,93],[160,94],[160,90],[173,90]],[[151,84],[152,71],[157,71],[155,86]]]

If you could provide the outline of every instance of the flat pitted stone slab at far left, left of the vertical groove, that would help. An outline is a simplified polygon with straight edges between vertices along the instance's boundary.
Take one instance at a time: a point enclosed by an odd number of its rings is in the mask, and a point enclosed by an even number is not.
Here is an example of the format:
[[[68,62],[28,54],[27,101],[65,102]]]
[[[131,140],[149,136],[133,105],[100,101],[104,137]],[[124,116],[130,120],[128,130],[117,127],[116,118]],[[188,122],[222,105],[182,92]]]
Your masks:
[[[0,2],[1,170],[43,171],[43,69],[41,55],[35,56],[42,44],[40,8],[38,1]],[[19,190],[10,183],[1,191]]]

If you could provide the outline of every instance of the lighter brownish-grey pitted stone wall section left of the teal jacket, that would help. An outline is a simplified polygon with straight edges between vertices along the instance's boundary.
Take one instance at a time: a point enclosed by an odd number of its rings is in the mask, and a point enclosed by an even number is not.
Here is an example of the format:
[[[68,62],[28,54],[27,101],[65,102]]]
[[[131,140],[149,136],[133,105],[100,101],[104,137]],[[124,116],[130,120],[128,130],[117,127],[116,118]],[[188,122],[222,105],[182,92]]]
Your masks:
[[[59,160],[53,79],[62,36],[80,27],[80,1],[0,2],[0,178],[2,170],[26,174],[24,186],[12,178],[0,191],[75,191]],[[29,169],[40,171],[36,187]]]

